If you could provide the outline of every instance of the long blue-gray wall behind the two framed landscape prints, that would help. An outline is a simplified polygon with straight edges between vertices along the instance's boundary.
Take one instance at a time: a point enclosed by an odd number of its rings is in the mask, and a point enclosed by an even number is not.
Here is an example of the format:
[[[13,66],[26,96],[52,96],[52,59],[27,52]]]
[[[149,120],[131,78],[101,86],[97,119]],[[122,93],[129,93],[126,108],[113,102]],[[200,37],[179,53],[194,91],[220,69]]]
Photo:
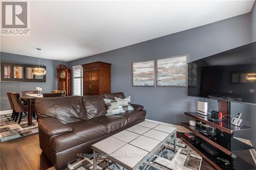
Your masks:
[[[188,55],[188,62],[251,42],[250,13],[202,27],[137,43],[110,52],[69,62],[74,65],[103,61],[112,63],[111,91],[131,95],[132,103],[142,104],[148,119],[179,125],[186,122],[184,111],[196,111],[197,101],[186,95],[184,87],[132,87],[134,61]],[[236,105],[236,104],[234,104]]]

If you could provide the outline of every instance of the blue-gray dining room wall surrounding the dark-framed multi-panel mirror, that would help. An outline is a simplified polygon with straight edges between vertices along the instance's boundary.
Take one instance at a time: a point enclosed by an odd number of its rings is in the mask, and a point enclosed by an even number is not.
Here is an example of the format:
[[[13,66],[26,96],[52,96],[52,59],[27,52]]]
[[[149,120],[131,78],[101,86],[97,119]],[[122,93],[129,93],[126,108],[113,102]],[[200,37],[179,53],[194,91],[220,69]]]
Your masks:
[[[0,53],[0,60],[13,63],[38,64],[38,58],[22,56],[10,53]],[[50,92],[58,88],[57,83],[57,66],[59,64],[67,65],[67,62],[56,60],[41,59],[40,65],[46,66],[46,82],[0,82],[1,105],[0,110],[9,110],[10,105],[6,96],[7,91],[15,91],[22,93],[22,90],[35,90],[36,86],[42,87],[42,92]]]

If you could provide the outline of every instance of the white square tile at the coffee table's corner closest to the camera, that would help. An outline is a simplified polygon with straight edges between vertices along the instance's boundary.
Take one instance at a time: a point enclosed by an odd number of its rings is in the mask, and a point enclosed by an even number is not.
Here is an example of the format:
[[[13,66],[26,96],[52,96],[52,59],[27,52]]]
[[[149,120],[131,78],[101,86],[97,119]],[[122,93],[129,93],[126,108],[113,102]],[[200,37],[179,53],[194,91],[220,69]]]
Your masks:
[[[112,155],[114,155],[115,159],[133,168],[147,154],[148,152],[142,149],[134,147],[131,144],[126,144],[122,148],[115,151]]]

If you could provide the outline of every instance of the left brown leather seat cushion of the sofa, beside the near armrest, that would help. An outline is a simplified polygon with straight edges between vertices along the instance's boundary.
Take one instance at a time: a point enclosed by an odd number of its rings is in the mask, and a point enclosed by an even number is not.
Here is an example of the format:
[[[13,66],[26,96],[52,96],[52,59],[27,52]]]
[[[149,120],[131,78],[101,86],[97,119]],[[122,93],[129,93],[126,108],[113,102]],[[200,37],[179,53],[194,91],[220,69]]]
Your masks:
[[[73,132],[58,135],[53,138],[52,150],[54,152],[61,152],[108,134],[105,125],[90,122],[89,120],[69,124],[69,126],[72,127]]]

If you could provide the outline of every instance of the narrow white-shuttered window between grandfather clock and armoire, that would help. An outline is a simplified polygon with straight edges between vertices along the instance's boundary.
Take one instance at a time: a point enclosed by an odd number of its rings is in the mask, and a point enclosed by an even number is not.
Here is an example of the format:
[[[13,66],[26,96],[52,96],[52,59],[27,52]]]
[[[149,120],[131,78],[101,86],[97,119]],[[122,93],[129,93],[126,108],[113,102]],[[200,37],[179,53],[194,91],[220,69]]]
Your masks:
[[[82,95],[82,66],[73,66],[73,95]]]

